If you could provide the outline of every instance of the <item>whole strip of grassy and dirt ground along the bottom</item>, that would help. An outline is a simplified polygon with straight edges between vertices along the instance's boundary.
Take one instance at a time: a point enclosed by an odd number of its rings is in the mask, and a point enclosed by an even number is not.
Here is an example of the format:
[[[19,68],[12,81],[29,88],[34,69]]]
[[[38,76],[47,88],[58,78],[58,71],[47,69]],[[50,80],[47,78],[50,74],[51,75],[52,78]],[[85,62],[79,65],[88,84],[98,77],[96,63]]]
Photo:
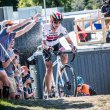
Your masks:
[[[0,110],[110,110],[110,95],[1,101]]]

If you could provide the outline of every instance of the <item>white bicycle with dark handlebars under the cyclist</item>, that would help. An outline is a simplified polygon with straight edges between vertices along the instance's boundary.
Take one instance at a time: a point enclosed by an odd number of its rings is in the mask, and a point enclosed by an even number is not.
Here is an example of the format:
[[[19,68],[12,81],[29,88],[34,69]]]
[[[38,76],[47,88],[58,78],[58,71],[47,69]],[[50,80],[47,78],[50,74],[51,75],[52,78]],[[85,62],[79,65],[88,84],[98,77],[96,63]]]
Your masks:
[[[73,68],[69,64],[63,65],[61,62],[60,55],[65,53],[70,53],[71,51],[58,51],[52,52],[51,55],[56,55],[56,60],[53,62],[53,67],[57,65],[56,78],[52,77],[52,89],[53,89],[53,97],[62,97],[61,91],[63,92],[63,96],[76,96],[77,95],[77,81],[76,75],[73,71]],[[49,56],[51,57],[51,56]],[[71,61],[75,58],[75,54]],[[48,99],[49,94],[47,92],[47,88],[45,86],[45,77],[43,80],[43,99]]]

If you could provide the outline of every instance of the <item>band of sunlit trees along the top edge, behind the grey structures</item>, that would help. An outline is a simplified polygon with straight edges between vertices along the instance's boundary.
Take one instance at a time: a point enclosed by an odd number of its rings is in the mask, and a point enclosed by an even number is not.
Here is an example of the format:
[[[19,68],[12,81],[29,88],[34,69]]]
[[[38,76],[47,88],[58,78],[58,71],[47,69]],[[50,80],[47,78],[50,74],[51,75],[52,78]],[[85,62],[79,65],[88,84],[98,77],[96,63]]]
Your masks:
[[[97,9],[98,5],[95,0],[45,0],[46,7],[64,7],[65,11],[80,11],[84,9]],[[99,0],[98,0],[99,1]],[[30,7],[41,5],[43,0],[19,0],[18,7]]]

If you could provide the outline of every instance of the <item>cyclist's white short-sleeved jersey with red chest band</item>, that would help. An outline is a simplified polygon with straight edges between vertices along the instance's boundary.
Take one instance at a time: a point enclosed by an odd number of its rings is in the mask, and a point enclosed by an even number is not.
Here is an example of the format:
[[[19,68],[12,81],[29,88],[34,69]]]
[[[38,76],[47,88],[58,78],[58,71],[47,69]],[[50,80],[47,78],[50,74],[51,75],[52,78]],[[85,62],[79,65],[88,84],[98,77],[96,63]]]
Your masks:
[[[59,37],[63,35],[67,37],[67,30],[60,24],[55,32],[51,30],[51,24],[45,24],[43,27],[43,40],[46,40],[48,46],[54,46],[59,43]]]

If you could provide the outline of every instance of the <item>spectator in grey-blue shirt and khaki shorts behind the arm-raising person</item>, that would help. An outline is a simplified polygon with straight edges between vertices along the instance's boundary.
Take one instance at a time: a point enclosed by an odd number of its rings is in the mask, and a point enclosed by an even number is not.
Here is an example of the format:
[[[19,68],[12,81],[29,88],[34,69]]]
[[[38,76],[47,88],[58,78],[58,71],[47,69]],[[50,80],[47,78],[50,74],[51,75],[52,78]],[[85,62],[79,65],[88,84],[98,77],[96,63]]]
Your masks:
[[[7,49],[7,55],[5,55],[5,61],[3,62],[3,67],[11,83],[9,88],[11,99],[15,99],[15,94],[17,93],[17,87],[16,87],[15,78],[14,78],[15,70],[16,70],[16,74],[20,72],[17,67],[19,63],[18,62],[19,59],[17,60],[16,57],[18,57],[18,55],[15,53],[15,50],[13,50],[14,44],[15,44],[15,41],[14,39],[12,39]]]

